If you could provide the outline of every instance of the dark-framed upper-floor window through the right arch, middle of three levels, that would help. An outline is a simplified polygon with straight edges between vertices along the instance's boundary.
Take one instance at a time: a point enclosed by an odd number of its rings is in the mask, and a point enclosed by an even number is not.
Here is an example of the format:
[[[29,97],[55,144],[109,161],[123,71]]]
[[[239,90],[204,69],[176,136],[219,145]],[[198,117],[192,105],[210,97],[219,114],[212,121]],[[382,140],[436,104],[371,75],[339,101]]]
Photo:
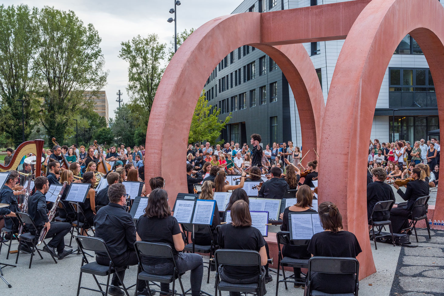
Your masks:
[[[389,108],[436,108],[432,74],[424,68],[389,68]]]

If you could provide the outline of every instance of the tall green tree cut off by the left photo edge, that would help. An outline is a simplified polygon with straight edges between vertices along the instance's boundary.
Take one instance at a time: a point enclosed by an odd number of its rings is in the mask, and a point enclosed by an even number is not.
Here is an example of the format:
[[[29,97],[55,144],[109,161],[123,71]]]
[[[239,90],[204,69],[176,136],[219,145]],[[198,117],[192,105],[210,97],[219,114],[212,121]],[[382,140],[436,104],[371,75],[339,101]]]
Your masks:
[[[32,96],[30,68],[35,44],[32,12],[27,5],[0,6],[0,132],[17,146],[22,143],[22,103],[25,139],[32,132],[38,101]]]

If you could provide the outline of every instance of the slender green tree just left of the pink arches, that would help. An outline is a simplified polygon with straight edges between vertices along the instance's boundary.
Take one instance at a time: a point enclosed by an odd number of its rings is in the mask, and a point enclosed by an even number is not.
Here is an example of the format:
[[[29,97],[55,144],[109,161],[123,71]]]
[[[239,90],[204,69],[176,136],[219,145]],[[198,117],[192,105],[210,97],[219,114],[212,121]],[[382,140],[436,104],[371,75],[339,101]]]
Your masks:
[[[127,92],[130,96],[131,111],[135,113],[140,126],[147,128],[153,100],[162,78],[166,44],[159,43],[159,36],[140,35],[121,43],[119,57],[129,63]]]

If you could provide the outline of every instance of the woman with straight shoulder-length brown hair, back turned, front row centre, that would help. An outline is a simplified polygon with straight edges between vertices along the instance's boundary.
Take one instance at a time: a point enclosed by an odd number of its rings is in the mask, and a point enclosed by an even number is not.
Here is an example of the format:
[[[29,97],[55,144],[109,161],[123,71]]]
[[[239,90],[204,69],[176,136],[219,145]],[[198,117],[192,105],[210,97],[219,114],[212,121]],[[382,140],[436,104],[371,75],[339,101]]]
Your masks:
[[[258,228],[251,226],[250,209],[244,200],[238,200],[232,205],[231,220],[231,223],[222,225],[219,231],[219,246],[222,249],[257,251],[261,256],[261,264],[266,265],[265,240]],[[256,283],[258,273],[256,267],[219,266],[221,279],[232,284]],[[265,287],[263,291],[265,294]],[[240,292],[230,292],[230,296],[240,296]]]

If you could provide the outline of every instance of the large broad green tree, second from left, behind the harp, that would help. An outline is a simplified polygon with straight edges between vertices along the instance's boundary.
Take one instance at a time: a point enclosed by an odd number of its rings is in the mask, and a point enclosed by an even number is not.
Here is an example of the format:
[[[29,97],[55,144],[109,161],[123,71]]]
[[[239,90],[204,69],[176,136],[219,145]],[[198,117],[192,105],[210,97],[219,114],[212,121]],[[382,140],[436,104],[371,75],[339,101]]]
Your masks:
[[[63,142],[70,119],[83,108],[92,108],[92,96],[106,84],[101,38],[74,12],[50,7],[38,12],[33,28],[33,71],[39,81],[37,93],[43,97],[40,120],[48,137]]]

